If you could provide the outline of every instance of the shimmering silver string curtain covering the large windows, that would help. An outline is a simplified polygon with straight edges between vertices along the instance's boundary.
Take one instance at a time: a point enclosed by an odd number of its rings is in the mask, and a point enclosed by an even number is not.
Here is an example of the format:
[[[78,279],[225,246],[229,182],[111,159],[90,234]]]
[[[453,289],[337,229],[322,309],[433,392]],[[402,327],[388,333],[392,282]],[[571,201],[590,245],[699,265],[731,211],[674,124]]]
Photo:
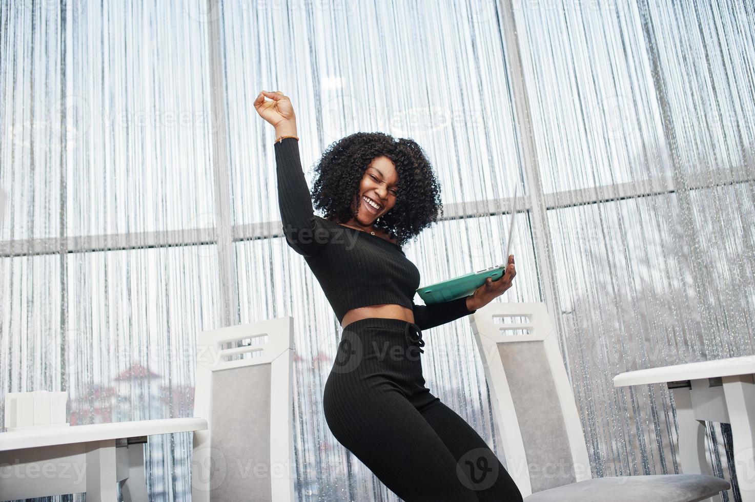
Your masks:
[[[297,500],[398,500],[322,414],[341,328],[270,231],[274,137],[252,102],[279,90],[310,186],[347,134],[423,147],[445,208],[405,246],[423,284],[504,260],[518,186],[497,301],[549,305],[593,476],[678,473],[668,390],[612,377],[753,353],[753,17],[745,0],[0,2],[0,392],[66,390],[72,425],[190,417],[199,331],[292,316]],[[504,459],[470,325],[425,340],[427,387]],[[730,430],[708,426],[735,481]],[[190,433],[150,437],[153,500],[189,500],[190,453]]]

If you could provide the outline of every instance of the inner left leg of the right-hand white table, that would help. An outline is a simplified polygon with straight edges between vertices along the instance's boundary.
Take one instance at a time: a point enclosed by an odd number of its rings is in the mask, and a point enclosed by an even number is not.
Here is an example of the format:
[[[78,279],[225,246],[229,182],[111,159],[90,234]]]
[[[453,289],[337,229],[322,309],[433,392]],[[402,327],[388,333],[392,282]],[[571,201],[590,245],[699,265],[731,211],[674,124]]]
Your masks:
[[[713,476],[705,455],[705,423],[695,419],[689,391],[688,387],[671,389],[676,420],[679,422],[679,462],[682,473]],[[701,502],[721,502],[721,494]]]

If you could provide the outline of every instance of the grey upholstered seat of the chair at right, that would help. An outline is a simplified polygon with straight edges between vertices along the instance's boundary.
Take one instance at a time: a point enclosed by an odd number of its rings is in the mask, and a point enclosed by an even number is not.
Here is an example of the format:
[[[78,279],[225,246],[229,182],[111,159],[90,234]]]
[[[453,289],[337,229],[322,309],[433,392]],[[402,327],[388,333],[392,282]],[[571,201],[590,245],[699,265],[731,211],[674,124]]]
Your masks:
[[[525,502],[695,502],[731,488],[729,482],[700,474],[609,476],[538,491]]]

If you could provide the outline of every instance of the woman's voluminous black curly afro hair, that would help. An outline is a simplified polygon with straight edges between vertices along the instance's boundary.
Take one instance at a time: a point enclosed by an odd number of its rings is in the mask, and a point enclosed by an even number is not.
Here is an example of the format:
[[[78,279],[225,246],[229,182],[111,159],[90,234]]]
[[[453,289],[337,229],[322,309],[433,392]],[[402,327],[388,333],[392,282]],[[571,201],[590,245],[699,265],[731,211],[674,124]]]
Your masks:
[[[379,132],[358,132],[331,143],[314,167],[312,189],[314,206],[325,212],[325,219],[346,223],[358,207],[359,183],[373,159],[387,156],[399,175],[396,205],[374,223],[398,245],[419,235],[422,229],[443,214],[440,183],[424,150],[414,140],[393,138]]]

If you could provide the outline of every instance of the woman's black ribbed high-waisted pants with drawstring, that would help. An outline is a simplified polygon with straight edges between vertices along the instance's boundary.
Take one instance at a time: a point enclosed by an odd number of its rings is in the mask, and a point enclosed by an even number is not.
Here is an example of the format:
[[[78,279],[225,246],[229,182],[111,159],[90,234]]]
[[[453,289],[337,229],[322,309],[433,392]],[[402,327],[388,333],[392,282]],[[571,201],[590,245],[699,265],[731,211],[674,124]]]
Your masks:
[[[519,502],[522,495],[470,425],[425,387],[418,325],[344,326],[325,383],[333,436],[406,502]]]

